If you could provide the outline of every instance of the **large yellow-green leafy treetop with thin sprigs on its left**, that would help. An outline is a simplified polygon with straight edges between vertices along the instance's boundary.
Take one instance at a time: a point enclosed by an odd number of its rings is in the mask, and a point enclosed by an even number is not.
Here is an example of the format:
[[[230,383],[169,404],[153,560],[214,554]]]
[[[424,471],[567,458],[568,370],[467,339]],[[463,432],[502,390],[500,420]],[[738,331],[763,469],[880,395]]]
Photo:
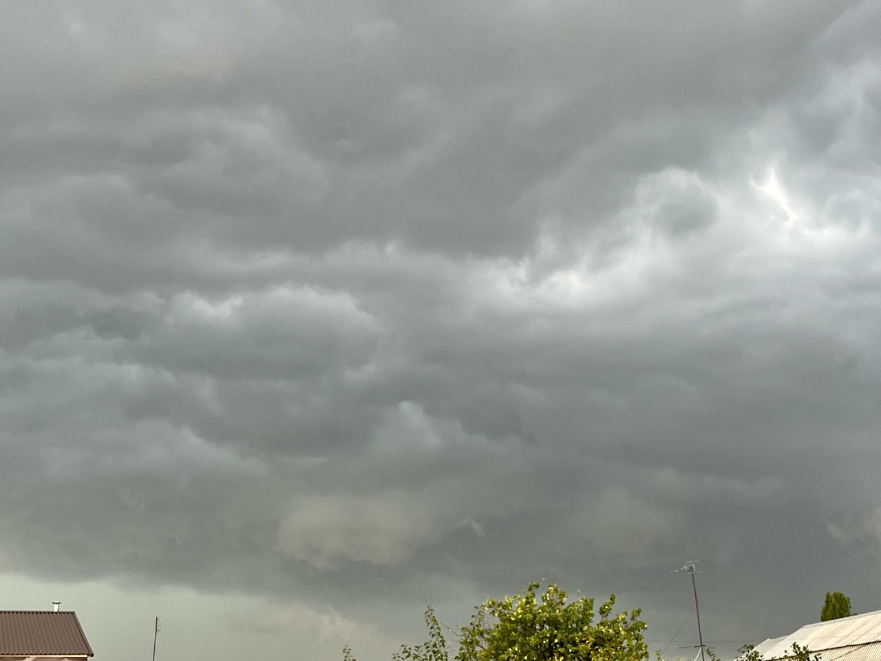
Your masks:
[[[601,605],[568,601],[556,584],[538,594],[531,583],[516,597],[488,599],[460,629],[455,661],[648,661],[640,610],[613,614],[615,596]],[[448,661],[448,644],[431,608],[426,611],[428,641],[403,645],[394,661]],[[344,661],[354,661],[344,649]]]

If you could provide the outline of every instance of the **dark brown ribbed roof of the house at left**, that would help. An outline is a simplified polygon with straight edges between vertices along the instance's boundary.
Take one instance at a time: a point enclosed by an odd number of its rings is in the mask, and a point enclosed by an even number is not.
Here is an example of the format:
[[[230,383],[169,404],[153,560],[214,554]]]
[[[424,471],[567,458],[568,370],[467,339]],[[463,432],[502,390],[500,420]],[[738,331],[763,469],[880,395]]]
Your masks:
[[[73,611],[0,611],[0,656],[92,657]]]

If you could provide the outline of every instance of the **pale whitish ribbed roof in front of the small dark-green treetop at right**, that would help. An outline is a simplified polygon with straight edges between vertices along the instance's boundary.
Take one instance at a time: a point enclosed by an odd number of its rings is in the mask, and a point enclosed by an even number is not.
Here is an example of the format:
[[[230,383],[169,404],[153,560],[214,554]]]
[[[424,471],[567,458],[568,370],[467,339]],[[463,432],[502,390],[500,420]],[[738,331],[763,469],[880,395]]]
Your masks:
[[[881,659],[881,611],[840,620],[808,624],[793,634],[769,638],[756,645],[764,658],[792,655],[792,643],[811,650],[821,661],[878,661]]]

